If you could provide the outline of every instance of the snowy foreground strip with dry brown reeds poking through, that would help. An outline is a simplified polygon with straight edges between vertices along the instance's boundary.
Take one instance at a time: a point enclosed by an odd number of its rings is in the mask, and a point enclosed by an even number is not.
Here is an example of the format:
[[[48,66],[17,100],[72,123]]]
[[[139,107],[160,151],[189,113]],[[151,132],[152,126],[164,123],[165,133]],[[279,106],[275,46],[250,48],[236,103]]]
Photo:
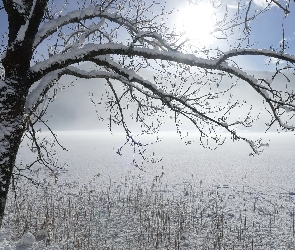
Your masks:
[[[132,175],[23,183],[10,193],[0,249],[295,249],[294,198]]]

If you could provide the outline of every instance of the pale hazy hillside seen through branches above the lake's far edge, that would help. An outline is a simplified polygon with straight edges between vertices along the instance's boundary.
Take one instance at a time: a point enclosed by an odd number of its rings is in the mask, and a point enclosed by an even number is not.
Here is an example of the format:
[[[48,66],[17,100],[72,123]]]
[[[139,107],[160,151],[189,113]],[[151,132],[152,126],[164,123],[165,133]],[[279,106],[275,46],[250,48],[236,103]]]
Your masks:
[[[83,64],[82,67],[88,67],[91,64]],[[258,77],[267,76],[270,77],[271,73],[266,71],[256,71]],[[152,74],[149,72],[144,72],[146,78],[152,78]],[[269,73],[269,75],[267,75]],[[295,77],[290,75],[290,78]],[[220,85],[224,88],[226,85],[230,84],[230,80],[225,78]],[[279,81],[278,79],[277,81]],[[116,84],[114,84],[116,87]],[[222,87],[222,86],[221,86]],[[118,89],[120,91],[120,89]],[[243,99],[247,101],[247,104],[241,108],[237,108],[233,112],[232,117],[245,115],[250,106],[254,108],[252,110],[253,114],[258,115],[260,109],[263,108],[262,101],[260,96],[255,93],[247,84],[242,82],[239,86],[231,90],[236,98],[242,96]],[[242,93],[242,95],[240,94]],[[108,131],[108,120],[109,120],[109,111],[104,109],[103,103],[105,102],[105,85],[103,79],[78,79],[75,80],[74,77],[65,76],[59,81],[59,89],[56,91],[56,97],[53,102],[49,104],[46,115],[43,120],[48,120],[48,125],[52,130],[55,131],[74,131],[74,130],[105,130]],[[226,104],[227,97],[223,97],[221,101],[223,104]],[[237,99],[238,100],[238,99]],[[217,100],[219,101],[219,99]],[[240,100],[239,100],[240,101]],[[101,104],[98,104],[101,103]],[[123,105],[126,105],[125,101],[122,102]],[[214,101],[212,104],[214,105]],[[139,131],[138,124],[130,118],[132,113],[132,107],[130,110],[125,110],[127,113],[125,119],[129,124],[130,130]],[[129,113],[128,113],[129,112]],[[150,119],[151,117],[148,117]],[[174,124],[174,119],[167,117],[161,118],[164,124],[161,127],[162,131],[175,131],[176,127]],[[249,131],[249,132],[264,132],[265,124],[263,120],[269,120],[267,112],[264,110],[260,115],[260,120],[256,121],[251,128],[238,128],[240,131]],[[46,126],[39,123],[39,125],[46,130]],[[114,126],[114,125],[113,125]],[[115,126],[114,126],[115,127]],[[277,126],[274,125],[270,131],[276,132]],[[182,130],[194,130],[194,126],[187,121],[182,119]]]

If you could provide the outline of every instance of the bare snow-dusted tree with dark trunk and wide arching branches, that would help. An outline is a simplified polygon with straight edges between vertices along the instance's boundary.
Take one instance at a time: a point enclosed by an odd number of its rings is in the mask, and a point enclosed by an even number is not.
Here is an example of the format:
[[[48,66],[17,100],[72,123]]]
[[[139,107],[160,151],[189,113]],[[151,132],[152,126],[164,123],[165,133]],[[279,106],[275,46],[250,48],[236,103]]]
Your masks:
[[[239,1],[232,15],[228,15],[226,4],[230,1],[218,6],[210,1],[223,13],[216,17],[211,35],[226,44],[224,48],[196,47],[177,30],[169,29],[167,17],[171,13],[164,2],[61,2],[3,0],[4,9],[0,10],[7,12],[9,23],[8,41],[3,34],[0,81],[1,222],[24,134],[31,135],[39,161],[50,168],[50,162],[42,161],[44,152],[34,139],[34,124],[43,121],[47,110],[44,102],[63,75],[105,79],[110,128],[113,123],[121,125],[133,146],[142,144],[135,140],[125,119],[130,103],[136,107],[133,119],[141,123],[143,133],[157,132],[161,119],[168,114],[173,116],[177,129],[181,120],[188,119],[201,139],[222,143],[217,133],[222,128],[233,140],[244,140],[253,153],[259,153],[261,141],[243,137],[237,130],[251,127],[257,119],[251,114],[251,103],[246,115],[233,115],[233,110],[247,104],[240,95],[234,99],[233,89],[240,83],[249,85],[253,95],[261,98],[261,108],[270,115],[266,129],[277,123],[283,130],[293,131],[294,90],[273,82],[284,75],[286,83],[294,85],[288,82],[288,74],[294,72],[295,56],[285,53],[284,37],[278,49],[256,49],[249,42],[251,21],[274,4],[282,9],[282,15],[287,15],[291,4],[288,1],[266,1],[261,9],[255,8],[252,0]],[[235,59],[243,55],[262,55],[285,64],[277,63],[276,72],[261,79],[239,67]],[[96,68],[86,71],[77,66],[85,61]],[[153,73],[153,80],[143,77],[146,69]],[[127,100],[126,107],[123,99]],[[149,123],[146,117],[150,116],[156,117],[157,123]]]

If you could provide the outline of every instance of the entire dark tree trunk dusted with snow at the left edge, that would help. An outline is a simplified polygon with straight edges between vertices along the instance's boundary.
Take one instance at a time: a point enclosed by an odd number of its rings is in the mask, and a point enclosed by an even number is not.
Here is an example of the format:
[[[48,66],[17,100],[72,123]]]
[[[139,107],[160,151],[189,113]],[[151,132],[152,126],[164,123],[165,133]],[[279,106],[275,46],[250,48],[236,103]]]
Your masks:
[[[13,1],[3,1],[8,14],[9,40],[2,60],[5,79],[0,85],[0,226],[15,159],[25,131],[24,105],[33,84],[28,74],[32,45],[47,5],[47,0],[40,0],[32,9],[33,0],[23,2],[26,8],[21,12]],[[20,36],[23,25],[27,25],[26,32]]]

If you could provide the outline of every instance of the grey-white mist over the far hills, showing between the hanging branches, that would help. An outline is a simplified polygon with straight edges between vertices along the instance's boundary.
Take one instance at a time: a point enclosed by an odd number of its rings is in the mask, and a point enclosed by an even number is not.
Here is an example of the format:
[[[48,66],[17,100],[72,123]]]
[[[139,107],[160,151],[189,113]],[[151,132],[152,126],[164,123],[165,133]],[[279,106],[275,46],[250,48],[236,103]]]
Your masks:
[[[84,63],[79,65],[79,67],[84,70],[91,70],[93,66],[91,63]],[[267,71],[249,71],[248,74],[255,75],[257,79],[271,79],[273,75],[273,73]],[[153,73],[144,71],[143,78],[152,80]],[[219,90],[227,88],[233,84],[233,82],[233,79],[227,76],[223,77],[223,80],[219,84]],[[294,75],[287,73],[286,76],[279,75],[276,77],[272,86],[276,85],[276,87],[280,89],[286,89],[288,87],[288,91],[290,91],[290,89],[295,89],[293,84],[294,82]],[[242,129],[243,132],[265,132],[265,122],[269,122],[271,117],[267,111],[264,110],[264,104],[261,96],[259,96],[259,94],[257,94],[248,83],[243,81],[238,81],[238,83],[238,86],[235,86],[232,90],[230,90],[229,94],[232,94],[235,97],[234,100],[238,100],[239,102],[245,100],[246,104],[242,107],[237,107],[234,111],[232,111],[231,117],[244,117],[249,112],[250,108],[253,117],[257,116],[259,112],[262,111],[259,116],[259,120],[254,122],[252,128],[239,129]],[[113,84],[116,90],[120,92],[122,83],[114,81]],[[49,94],[48,100],[53,97],[54,98],[52,101],[49,101],[48,111],[43,117],[43,120],[46,121],[47,125],[53,131],[108,131],[110,112],[105,108],[105,101],[108,96],[106,93],[107,88],[108,87],[104,79],[77,79],[72,76],[63,76],[57,87]],[[55,95],[53,93],[55,93]],[[228,101],[228,95],[212,100],[210,105],[218,105],[218,102],[220,101],[221,105],[227,105],[226,102]],[[126,100],[123,99],[122,105],[126,105]],[[131,110],[126,111],[125,116],[131,131],[140,129],[138,124],[130,118],[130,114],[134,111],[135,110],[132,110],[131,108]],[[147,119],[153,118],[147,117]],[[161,126],[161,131],[176,131],[174,118],[172,118],[171,115],[167,114],[166,117],[162,117],[161,119],[164,123]],[[181,128],[183,130],[194,132],[194,127],[191,122],[185,118],[183,118],[181,122]],[[42,123],[39,123],[39,125],[42,130],[46,130],[46,127]],[[120,128],[118,129],[120,130]],[[277,124],[275,124],[269,131],[275,132],[276,129]]]

